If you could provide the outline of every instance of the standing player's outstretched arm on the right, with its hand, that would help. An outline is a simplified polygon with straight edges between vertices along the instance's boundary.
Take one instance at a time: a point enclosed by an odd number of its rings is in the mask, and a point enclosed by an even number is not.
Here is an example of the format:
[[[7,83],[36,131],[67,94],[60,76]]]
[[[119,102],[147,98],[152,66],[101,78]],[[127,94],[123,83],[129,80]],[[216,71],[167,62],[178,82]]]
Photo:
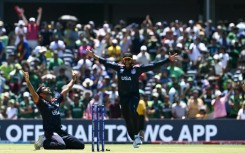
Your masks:
[[[160,67],[160,66],[162,66],[162,65],[164,65],[166,63],[174,62],[177,59],[177,57],[178,57],[177,53],[175,53],[174,55],[171,55],[169,53],[168,59],[160,60],[158,62],[154,62],[154,63],[151,63],[151,64],[147,64],[147,65],[141,66],[142,72],[147,72],[147,71],[153,70],[155,68],[158,68],[158,67]]]

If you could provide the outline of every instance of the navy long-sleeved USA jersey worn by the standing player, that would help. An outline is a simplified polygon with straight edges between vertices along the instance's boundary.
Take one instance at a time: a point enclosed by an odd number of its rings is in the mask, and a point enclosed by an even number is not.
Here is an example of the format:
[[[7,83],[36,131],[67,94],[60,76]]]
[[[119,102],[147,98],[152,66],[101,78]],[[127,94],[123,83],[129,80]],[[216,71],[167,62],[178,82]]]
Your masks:
[[[125,68],[124,65],[107,61],[99,58],[100,63],[105,67],[117,71],[118,77],[118,93],[119,95],[139,95],[139,76],[143,72],[147,72],[162,66],[169,62],[169,59],[160,60],[147,65],[135,65],[132,68]]]

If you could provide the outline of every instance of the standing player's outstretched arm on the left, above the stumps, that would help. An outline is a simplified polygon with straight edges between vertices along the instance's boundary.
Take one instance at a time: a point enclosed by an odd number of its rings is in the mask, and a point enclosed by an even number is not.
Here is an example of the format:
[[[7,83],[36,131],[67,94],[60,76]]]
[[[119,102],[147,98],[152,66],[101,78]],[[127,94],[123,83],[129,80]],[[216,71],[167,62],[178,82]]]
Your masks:
[[[101,64],[104,64],[105,67],[111,68],[113,70],[117,70],[119,68],[119,65],[117,63],[107,61],[107,60],[95,55],[94,52],[90,49],[87,49],[87,55],[98,60]]]

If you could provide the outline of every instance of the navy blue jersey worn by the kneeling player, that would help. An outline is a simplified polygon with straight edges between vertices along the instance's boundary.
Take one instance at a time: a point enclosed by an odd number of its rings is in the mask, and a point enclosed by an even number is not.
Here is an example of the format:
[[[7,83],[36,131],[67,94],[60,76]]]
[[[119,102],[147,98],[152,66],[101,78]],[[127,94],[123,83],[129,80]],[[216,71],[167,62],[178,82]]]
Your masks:
[[[55,98],[48,102],[40,97],[37,107],[43,118],[43,129],[45,132],[58,132],[61,129],[61,119],[59,107],[63,101],[63,96],[57,94]]]

